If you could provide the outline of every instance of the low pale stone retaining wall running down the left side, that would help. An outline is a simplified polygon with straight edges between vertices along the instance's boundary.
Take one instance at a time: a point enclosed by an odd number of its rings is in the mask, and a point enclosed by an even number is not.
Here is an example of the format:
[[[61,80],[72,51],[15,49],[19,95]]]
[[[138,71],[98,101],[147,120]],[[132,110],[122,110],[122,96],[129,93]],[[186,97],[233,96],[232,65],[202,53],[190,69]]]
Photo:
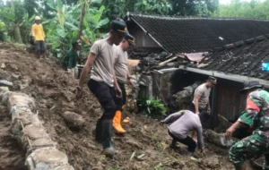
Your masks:
[[[39,121],[34,98],[0,89],[1,100],[12,117],[11,132],[27,151],[25,164],[29,170],[74,170]]]

